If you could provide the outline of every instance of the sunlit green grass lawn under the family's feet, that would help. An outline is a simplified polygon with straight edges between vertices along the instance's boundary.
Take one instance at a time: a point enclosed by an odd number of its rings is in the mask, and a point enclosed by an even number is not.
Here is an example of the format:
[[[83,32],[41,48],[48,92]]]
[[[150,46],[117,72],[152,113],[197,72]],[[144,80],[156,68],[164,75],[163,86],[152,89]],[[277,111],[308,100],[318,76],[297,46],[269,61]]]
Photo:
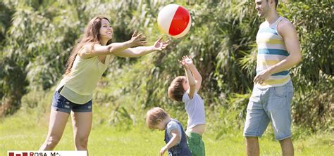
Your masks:
[[[47,135],[48,115],[20,111],[0,121],[0,155],[8,150],[38,150]],[[165,144],[163,131],[150,131],[144,124],[130,130],[93,123],[89,136],[90,155],[159,155]],[[280,155],[280,145],[268,132],[260,140],[261,155]],[[245,155],[242,131],[223,134],[216,140],[216,132],[204,134],[206,155]],[[334,138],[330,134],[314,134],[294,140],[295,155],[334,155]],[[55,150],[73,150],[70,119],[66,131]]]

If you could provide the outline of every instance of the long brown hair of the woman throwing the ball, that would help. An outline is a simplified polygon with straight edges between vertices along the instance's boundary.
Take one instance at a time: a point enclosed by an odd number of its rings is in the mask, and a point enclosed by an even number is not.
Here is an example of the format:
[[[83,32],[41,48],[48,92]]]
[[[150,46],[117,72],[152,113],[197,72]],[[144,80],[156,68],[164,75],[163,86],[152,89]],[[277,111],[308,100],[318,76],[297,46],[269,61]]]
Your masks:
[[[108,18],[97,16],[89,21],[85,29],[85,33],[83,34],[83,37],[79,39],[78,43],[73,48],[73,51],[70,53],[70,57],[68,58],[67,63],[66,63],[65,75],[69,74],[70,71],[72,70],[72,66],[73,66],[75,57],[77,57],[78,51],[82,48],[82,46],[84,46],[85,44],[91,43],[92,50],[94,50],[94,44],[101,44],[99,41],[99,37],[100,37],[99,30],[101,29],[102,19],[108,20]],[[107,45],[108,44],[111,44],[111,40],[107,42]]]

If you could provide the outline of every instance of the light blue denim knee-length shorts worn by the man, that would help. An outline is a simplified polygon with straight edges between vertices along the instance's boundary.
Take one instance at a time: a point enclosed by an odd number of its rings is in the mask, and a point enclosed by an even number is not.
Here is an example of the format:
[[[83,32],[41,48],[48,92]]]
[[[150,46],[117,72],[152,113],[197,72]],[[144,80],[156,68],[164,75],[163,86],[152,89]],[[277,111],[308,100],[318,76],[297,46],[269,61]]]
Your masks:
[[[291,81],[283,86],[266,89],[254,86],[247,106],[244,136],[261,137],[271,122],[276,140],[290,138],[292,94]]]

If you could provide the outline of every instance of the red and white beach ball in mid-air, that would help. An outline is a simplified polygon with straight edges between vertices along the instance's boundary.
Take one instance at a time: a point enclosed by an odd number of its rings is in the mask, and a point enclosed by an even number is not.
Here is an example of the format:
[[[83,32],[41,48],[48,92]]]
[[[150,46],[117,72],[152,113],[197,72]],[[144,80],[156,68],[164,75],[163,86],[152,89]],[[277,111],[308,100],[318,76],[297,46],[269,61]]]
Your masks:
[[[168,4],[158,14],[159,29],[174,38],[185,36],[190,30],[191,22],[189,11],[178,4]]]

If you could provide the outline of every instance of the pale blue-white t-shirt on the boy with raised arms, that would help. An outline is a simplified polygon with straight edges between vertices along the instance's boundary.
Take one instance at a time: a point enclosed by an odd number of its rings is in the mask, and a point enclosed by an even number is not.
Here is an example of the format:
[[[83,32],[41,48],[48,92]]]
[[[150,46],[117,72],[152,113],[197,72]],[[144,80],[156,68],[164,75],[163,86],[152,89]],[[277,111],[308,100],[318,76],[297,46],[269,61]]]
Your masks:
[[[188,115],[187,129],[198,124],[205,124],[205,110],[204,110],[204,101],[201,96],[197,94],[197,91],[194,92],[194,96],[190,99],[187,92],[183,94],[182,101],[185,103],[185,111]]]

